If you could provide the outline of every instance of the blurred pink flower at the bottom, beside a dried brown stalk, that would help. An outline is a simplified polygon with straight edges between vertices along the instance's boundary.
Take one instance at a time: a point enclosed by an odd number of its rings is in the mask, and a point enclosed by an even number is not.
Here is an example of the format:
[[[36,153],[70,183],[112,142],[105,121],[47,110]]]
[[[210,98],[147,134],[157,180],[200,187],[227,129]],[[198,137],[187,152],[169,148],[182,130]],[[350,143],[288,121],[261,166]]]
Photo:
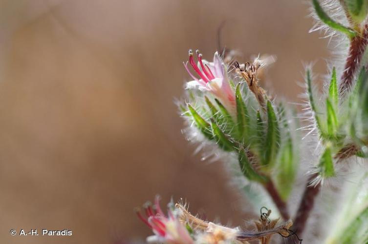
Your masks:
[[[173,210],[168,211],[168,217],[163,213],[159,197],[156,196],[154,207],[150,204],[144,206],[147,218],[144,218],[140,211],[136,211],[138,218],[147,224],[155,234],[147,238],[150,243],[166,244],[193,244],[193,239],[187,229],[180,223],[177,214]]]

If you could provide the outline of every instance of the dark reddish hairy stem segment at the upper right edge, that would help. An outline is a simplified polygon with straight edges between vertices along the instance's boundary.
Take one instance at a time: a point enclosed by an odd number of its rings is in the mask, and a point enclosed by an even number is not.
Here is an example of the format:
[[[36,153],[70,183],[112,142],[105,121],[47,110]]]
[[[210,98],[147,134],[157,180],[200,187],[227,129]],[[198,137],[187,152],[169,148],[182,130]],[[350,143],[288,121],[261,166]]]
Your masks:
[[[344,94],[353,85],[354,75],[359,69],[364,51],[368,44],[368,25],[365,25],[363,34],[350,40],[348,56],[340,82],[340,94]]]

